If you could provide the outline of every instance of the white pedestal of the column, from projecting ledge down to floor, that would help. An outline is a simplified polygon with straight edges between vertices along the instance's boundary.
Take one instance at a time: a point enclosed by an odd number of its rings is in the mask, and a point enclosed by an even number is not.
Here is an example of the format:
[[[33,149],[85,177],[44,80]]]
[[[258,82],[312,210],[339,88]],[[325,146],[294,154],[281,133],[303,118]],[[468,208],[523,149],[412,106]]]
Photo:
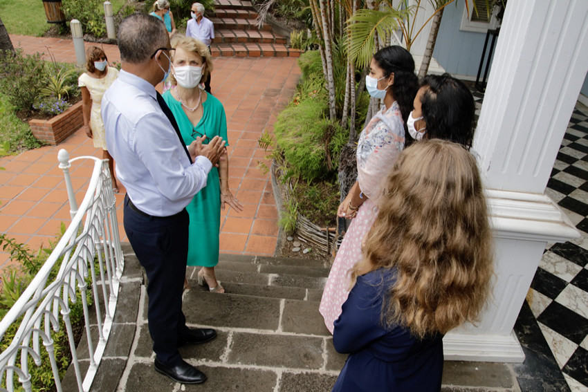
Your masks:
[[[548,196],[496,189],[486,189],[486,196],[494,236],[493,293],[475,325],[445,335],[445,360],[523,362],[513,327],[545,245],[580,234]]]

